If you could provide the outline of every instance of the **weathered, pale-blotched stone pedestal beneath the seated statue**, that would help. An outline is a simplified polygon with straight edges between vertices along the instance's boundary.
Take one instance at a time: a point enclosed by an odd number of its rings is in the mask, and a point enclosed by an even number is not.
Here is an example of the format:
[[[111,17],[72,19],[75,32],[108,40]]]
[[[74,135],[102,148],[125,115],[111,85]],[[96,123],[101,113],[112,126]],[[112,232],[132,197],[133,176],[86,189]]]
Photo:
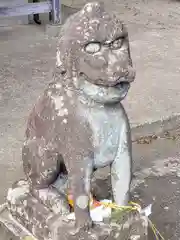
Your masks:
[[[95,223],[89,232],[77,231],[74,221],[55,213],[53,209],[37,200],[29,192],[26,181],[19,181],[9,190],[8,209],[22,228],[28,230],[38,240],[147,240],[148,221],[138,212],[125,214],[120,222]],[[62,208],[63,202],[61,205]],[[60,212],[60,209],[58,209]],[[68,209],[67,209],[68,211]]]

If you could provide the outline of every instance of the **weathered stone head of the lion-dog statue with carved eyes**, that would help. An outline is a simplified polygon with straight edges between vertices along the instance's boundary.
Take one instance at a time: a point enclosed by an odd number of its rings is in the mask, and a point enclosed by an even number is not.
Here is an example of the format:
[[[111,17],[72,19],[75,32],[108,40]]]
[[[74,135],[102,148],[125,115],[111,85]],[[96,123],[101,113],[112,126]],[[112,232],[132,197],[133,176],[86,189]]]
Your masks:
[[[86,4],[66,21],[56,65],[66,85],[99,102],[123,100],[135,78],[127,29],[98,2]]]

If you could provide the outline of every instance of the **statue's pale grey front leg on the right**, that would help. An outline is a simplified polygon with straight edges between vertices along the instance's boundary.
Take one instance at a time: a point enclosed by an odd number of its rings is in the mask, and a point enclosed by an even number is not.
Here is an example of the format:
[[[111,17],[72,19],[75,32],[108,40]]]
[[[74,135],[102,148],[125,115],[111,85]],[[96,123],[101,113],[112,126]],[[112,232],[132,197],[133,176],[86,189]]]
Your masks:
[[[111,165],[111,183],[114,201],[127,205],[132,178],[132,144],[128,120],[122,123],[117,156]]]

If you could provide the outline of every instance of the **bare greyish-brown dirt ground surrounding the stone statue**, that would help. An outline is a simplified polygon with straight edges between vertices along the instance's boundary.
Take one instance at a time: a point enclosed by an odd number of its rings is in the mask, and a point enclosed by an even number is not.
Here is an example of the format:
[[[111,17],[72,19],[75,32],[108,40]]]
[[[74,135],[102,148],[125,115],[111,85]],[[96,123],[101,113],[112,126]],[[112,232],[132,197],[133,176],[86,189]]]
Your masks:
[[[104,2],[129,29],[137,70],[136,82],[124,101],[131,125],[179,115],[180,1]],[[83,1],[63,3],[79,7]],[[44,28],[35,25],[0,28],[0,203],[11,183],[23,175],[21,145],[27,116],[51,81],[56,39],[48,38]],[[144,205],[155,201],[152,218],[165,240],[180,239],[180,181],[169,168],[162,176],[154,174],[153,165],[163,170],[164,162],[175,160],[177,170],[179,143],[158,140],[154,145],[135,145],[133,149],[135,172],[145,171],[137,178],[147,178],[137,187],[139,198]]]

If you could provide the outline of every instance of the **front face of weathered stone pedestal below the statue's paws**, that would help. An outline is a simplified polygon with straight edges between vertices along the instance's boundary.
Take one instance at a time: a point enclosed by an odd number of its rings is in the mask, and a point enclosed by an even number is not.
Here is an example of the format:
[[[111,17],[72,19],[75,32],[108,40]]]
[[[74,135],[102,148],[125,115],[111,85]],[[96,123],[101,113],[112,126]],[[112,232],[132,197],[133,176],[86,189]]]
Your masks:
[[[62,218],[52,223],[54,240],[147,240],[147,218],[139,214],[125,217],[121,224],[96,224],[88,232],[76,231],[73,222],[66,223]]]

